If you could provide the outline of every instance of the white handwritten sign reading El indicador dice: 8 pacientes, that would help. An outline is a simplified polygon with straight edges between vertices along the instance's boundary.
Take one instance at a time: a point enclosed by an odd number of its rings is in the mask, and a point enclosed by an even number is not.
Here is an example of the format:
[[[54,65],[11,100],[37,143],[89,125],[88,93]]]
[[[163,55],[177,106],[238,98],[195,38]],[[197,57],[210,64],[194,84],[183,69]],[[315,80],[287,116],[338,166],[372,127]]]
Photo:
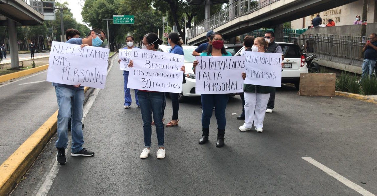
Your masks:
[[[133,48],[127,87],[158,92],[182,92],[184,56]]]

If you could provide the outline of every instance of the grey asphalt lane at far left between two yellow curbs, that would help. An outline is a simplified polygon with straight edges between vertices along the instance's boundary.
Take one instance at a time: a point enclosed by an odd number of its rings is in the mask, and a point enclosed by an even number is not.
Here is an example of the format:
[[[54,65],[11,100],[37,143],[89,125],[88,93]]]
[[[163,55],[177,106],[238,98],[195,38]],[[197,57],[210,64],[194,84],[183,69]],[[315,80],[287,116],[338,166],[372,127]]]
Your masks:
[[[0,164],[57,109],[47,71],[0,83]]]

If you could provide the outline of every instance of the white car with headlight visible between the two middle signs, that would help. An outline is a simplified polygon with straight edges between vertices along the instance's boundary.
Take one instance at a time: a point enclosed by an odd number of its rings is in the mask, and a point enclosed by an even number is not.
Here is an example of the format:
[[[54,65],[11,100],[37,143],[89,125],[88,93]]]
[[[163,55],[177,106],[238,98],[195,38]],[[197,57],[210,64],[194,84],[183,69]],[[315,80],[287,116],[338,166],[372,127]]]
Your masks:
[[[195,74],[192,70],[193,63],[195,61],[195,57],[192,55],[192,52],[197,48],[198,46],[192,46],[192,45],[182,45],[183,52],[185,54],[185,70],[184,76],[186,77],[186,83],[182,86],[182,93],[179,93],[179,102],[182,102],[185,100],[185,98],[189,96],[200,96],[200,94],[195,93]],[[157,51],[161,52],[169,52],[171,46],[167,45],[159,45]]]

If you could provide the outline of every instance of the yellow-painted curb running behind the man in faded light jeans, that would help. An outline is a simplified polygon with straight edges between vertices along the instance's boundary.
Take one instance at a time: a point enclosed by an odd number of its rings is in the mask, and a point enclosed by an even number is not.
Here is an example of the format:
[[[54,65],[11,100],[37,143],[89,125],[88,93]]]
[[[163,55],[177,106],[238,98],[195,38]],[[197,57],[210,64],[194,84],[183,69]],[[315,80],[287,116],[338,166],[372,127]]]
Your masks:
[[[89,87],[84,88],[84,93]],[[57,110],[0,165],[0,195],[8,195],[23,178],[57,130]]]

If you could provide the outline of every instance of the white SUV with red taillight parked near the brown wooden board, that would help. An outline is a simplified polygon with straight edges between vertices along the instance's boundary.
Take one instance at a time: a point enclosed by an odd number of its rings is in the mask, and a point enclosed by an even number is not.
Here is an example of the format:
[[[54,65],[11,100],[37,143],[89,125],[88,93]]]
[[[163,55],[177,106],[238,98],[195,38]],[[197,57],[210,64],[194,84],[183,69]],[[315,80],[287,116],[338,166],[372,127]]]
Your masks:
[[[308,67],[305,63],[305,56],[302,54],[300,46],[292,43],[276,42],[282,47],[284,53],[284,66],[282,72],[282,83],[293,83],[296,89],[300,88],[300,74],[308,73]],[[245,51],[242,47],[236,55]]]

